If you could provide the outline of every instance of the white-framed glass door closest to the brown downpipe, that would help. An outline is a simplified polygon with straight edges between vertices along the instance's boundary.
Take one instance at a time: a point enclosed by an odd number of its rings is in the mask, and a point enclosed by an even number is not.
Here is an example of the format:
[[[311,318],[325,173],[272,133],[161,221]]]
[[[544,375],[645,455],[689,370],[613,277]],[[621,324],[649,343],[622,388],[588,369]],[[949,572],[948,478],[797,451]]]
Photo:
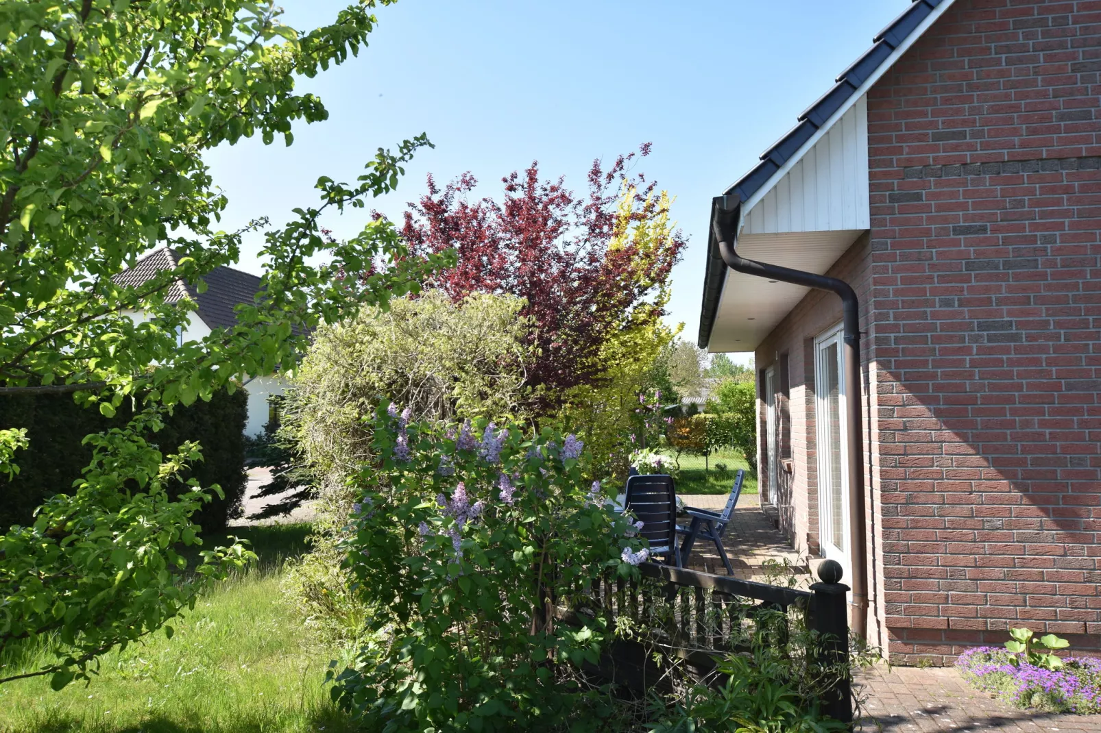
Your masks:
[[[844,430],[841,327],[815,340],[815,419],[818,434],[818,528],[822,555],[849,573],[849,467]]]

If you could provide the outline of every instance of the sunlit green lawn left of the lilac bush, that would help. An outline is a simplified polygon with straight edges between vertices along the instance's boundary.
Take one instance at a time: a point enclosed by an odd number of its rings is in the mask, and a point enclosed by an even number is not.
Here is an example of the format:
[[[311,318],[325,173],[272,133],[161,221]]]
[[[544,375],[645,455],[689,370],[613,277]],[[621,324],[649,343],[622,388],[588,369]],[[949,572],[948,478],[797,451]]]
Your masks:
[[[102,659],[91,685],[61,692],[48,678],[0,686],[3,733],[326,733],[352,731],[328,701],[329,659],[282,603],[283,558],[305,550],[305,525],[241,528],[261,562],[199,599],[163,633]],[[208,541],[208,544],[211,544]],[[217,544],[217,543],[214,543]],[[24,649],[6,671],[45,656]]]

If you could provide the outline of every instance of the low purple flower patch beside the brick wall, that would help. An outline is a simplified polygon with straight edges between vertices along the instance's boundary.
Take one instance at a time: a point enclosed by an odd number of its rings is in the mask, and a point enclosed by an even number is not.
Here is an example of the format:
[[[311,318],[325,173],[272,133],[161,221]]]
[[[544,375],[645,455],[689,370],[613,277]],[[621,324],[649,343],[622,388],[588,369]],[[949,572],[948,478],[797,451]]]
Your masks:
[[[1101,712],[1101,659],[1073,657],[1047,669],[1020,654],[981,646],[961,654],[956,666],[971,685],[1018,708]]]

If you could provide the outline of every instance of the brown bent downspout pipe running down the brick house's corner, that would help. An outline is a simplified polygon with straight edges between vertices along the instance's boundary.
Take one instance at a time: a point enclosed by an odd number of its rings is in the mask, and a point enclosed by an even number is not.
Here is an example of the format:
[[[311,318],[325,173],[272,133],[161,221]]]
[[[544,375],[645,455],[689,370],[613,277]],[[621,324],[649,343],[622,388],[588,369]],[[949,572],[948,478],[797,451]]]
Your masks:
[[[852,631],[860,639],[868,638],[868,536],[864,508],[863,407],[860,380],[860,303],[857,293],[844,281],[813,272],[746,260],[738,254],[738,227],[741,223],[741,199],[738,196],[716,196],[711,205],[711,233],[719,245],[722,262],[734,272],[778,280],[782,283],[829,291],[841,298],[844,339],[846,427],[849,438],[849,532],[852,567]]]

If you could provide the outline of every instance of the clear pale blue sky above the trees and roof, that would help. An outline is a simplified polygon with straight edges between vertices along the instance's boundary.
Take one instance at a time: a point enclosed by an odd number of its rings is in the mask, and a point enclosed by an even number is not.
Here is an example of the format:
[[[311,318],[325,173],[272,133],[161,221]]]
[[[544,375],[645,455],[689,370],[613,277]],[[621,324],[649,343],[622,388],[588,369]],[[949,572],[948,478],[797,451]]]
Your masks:
[[[285,0],[284,22],[304,30],[347,4]],[[353,180],[379,146],[427,132],[436,144],[407,166],[395,194],[373,207],[397,219],[424,192],[425,174],[470,171],[479,195],[539,162],[576,190],[596,157],[653,143],[636,171],[676,196],[689,238],[673,274],[671,324],[693,341],[710,198],[738,179],[800,111],[909,0],[402,0],[379,8],[358,58],[297,89],[318,95],[329,119],[299,124],[295,141],[259,139],[207,160],[230,199],[227,229],[253,217],[275,223],[317,200],[318,176]],[[355,210],[327,226],[357,232]],[[240,266],[259,272],[260,240]]]

